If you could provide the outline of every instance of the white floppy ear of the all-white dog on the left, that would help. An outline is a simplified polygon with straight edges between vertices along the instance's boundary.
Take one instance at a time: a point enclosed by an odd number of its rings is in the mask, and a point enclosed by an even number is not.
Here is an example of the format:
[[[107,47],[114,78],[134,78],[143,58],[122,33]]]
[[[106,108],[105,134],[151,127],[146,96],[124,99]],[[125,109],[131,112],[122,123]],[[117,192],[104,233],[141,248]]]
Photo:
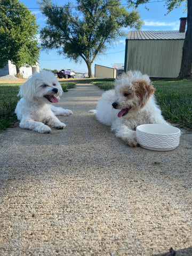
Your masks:
[[[35,79],[31,76],[27,82],[20,85],[18,96],[27,100],[33,99],[35,96]]]

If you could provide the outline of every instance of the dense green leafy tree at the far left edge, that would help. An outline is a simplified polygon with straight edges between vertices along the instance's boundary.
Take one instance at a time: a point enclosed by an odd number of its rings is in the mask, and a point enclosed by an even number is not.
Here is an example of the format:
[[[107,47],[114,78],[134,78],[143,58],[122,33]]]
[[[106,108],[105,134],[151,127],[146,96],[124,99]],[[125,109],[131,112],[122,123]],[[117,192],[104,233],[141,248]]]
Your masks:
[[[18,0],[0,0],[0,68],[8,60],[19,68],[36,65],[38,25],[35,14]]]

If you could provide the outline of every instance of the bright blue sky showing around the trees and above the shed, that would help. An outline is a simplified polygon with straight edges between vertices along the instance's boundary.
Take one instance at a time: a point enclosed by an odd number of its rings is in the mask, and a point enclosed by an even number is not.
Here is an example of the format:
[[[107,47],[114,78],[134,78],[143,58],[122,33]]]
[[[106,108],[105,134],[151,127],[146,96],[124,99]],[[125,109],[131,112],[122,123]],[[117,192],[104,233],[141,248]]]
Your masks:
[[[39,5],[36,1],[23,0],[23,4],[25,4],[31,12],[35,13],[37,23],[40,26],[40,29],[45,26],[45,17],[39,11]],[[53,3],[57,3],[58,5],[65,4],[68,1],[62,0],[53,0]],[[71,2],[71,1],[69,1]],[[126,0],[121,1],[122,4],[126,4]],[[174,9],[170,14],[167,14],[167,9],[165,5],[165,1],[151,0],[151,3],[148,3],[146,7],[149,11],[146,10],[145,5],[139,6],[139,12],[141,15],[141,19],[145,22],[145,25],[142,26],[141,30],[179,30],[181,17],[187,17],[187,13],[184,13],[185,5],[182,4],[178,9]],[[124,5],[125,6],[125,5]],[[128,10],[129,11],[129,10]],[[130,29],[124,29],[125,33],[129,33]],[[98,55],[92,65],[92,73],[94,74],[94,66],[95,64],[113,67],[114,63],[124,63],[125,56],[125,38],[121,38],[119,42],[114,42],[114,44],[110,45],[109,49],[103,55]],[[43,68],[46,69],[72,69],[76,73],[87,73],[86,63],[82,61],[82,63],[75,63],[69,59],[65,59],[63,55],[59,55],[56,50],[41,50],[40,58],[39,58],[40,70]]]

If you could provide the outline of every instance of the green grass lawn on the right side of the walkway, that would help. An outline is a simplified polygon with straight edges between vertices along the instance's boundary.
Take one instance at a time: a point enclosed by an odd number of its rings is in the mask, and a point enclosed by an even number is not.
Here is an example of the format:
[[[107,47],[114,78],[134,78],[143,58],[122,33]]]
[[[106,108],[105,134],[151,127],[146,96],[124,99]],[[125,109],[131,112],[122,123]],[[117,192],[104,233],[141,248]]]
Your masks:
[[[113,82],[94,82],[103,90],[114,88]],[[192,129],[192,82],[154,81],[155,97],[167,121]]]

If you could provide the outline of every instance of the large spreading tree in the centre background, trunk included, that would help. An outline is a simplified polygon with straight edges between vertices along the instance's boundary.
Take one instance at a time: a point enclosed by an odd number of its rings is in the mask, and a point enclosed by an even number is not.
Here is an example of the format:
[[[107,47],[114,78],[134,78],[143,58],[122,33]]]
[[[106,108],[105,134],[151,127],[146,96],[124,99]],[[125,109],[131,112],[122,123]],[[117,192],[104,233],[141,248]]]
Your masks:
[[[77,0],[63,6],[45,0],[39,5],[47,18],[41,30],[43,49],[58,49],[76,62],[84,60],[89,77],[97,54],[124,35],[122,28],[139,29],[142,24],[138,12],[127,12],[118,0]]]

